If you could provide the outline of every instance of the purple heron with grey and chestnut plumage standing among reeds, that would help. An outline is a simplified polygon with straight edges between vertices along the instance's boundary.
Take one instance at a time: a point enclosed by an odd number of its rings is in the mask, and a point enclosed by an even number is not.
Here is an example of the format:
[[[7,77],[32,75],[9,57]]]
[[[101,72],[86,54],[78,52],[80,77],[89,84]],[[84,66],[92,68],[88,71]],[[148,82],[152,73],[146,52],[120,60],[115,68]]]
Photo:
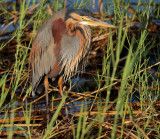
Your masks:
[[[39,29],[30,52],[32,68],[32,94],[44,82],[46,106],[48,107],[48,78],[60,76],[58,85],[63,97],[63,79],[69,79],[91,44],[90,26],[115,27],[91,17],[82,9],[61,10],[51,16]],[[47,110],[49,113],[49,110]]]

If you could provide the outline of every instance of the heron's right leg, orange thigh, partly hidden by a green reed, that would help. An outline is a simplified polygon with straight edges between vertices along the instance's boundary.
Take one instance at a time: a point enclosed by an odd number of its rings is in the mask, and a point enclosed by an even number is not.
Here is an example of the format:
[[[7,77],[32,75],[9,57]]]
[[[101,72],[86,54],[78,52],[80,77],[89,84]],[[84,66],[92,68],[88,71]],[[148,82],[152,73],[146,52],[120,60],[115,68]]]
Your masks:
[[[63,94],[63,77],[61,76],[58,80],[58,86],[59,86],[59,92],[63,98],[64,94]],[[65,107],[65,112],[66,112],[66,119],[68,119],[68,109],[66,106],[66,101],[64,102],[64,107]]]

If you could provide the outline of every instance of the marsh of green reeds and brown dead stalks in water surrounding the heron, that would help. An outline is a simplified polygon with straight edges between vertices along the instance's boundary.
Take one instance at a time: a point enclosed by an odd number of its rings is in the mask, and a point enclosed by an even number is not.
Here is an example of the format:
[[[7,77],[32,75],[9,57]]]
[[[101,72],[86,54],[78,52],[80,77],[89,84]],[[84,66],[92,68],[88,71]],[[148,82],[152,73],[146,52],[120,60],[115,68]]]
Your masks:
[[[160,5],[94,2],[1,0],[0,137],[160,138]],[[65,7],[88,8],[117,28],[92,29],[87,66],[65,83],[63,99],[57,80],[50,84],[46,122],[45,95],[31,96],[28,56],[38,28]]]

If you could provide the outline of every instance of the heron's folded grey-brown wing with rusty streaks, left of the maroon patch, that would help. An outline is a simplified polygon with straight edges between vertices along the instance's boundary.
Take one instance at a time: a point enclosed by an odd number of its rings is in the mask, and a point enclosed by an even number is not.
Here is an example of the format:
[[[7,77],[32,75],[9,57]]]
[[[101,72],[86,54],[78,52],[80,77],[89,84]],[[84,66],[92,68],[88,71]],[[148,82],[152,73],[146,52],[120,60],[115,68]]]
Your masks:
[[[57,64],[52,24],[58,17],[63,19],[65,12],[66,10],[59,11],[44,22],[32,44],[30,64],[32,66],[33,93],[36,91],[42,77],[54,70],[54,66]]]

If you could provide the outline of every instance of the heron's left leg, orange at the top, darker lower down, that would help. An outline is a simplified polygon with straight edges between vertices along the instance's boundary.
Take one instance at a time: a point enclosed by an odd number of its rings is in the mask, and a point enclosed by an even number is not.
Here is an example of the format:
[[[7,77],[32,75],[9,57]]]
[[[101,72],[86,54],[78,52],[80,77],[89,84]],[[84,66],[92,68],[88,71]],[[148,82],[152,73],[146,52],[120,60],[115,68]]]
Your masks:
[[[46,94],[46,115],[47,115],[47,120],[49,121],[49,105],[48,105],[48,86],[49,86],[49,82],[48,82],[48,76],[45,77],[44,79],[44,86],[45,86],[45,94]]]

